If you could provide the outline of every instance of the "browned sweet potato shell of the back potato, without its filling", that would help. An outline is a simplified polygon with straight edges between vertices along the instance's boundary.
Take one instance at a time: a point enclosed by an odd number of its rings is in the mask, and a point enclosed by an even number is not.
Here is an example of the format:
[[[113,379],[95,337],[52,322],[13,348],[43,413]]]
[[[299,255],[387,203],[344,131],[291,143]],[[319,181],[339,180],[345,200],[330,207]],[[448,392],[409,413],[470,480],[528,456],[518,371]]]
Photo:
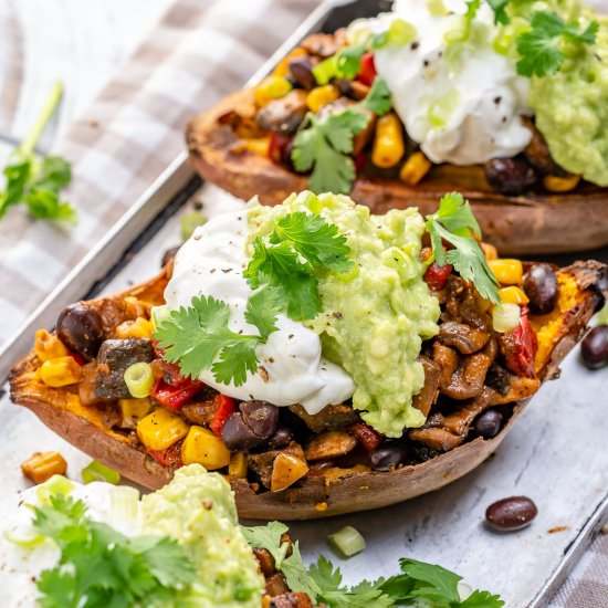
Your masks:
[[[249,199],[281,203],[308,188],[308,177],[248,151],[222,116],[253,103],[253,90],[233,93],[193,118],[186,130],[190,163],[203,179]],[[434,166],[417,186],[397,179],[359,177],[350,197],[374,213],[418,207],[432,213],[439,198],[458,190],[471,201],[484,240],[501,253],[537,254],[585,251],[608,244],[608,188],[584,184],[572,193],[505,197],[492,190],[481,166]]]

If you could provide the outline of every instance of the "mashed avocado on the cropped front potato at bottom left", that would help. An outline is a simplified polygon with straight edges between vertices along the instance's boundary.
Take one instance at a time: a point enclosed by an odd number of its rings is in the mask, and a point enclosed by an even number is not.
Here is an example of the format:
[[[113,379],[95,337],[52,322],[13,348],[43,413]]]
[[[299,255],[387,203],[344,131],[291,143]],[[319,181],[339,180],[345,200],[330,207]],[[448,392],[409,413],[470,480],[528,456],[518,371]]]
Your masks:
[[[176,607],[261,606],[264,578],[221,475],[199,464],[179,469],[168,485],[141,499],[140,518],[144,533],[175,538],[196,565],[197,581]]]

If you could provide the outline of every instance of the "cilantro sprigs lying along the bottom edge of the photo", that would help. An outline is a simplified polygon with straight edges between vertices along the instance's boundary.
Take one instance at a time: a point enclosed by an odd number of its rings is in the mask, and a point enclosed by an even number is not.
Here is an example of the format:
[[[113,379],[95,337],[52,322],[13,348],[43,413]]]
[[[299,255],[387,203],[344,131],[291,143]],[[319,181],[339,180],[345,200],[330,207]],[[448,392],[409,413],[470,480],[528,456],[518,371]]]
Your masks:
[[[283,535],[287,526],[270,522],[265,526],[242,527],[248,543],[255,548],[265,548],[273,556],[275,567],[285,577],[292,591],[308,594],[314,602],[324,602],[329,608],[349,606],[355,608],[391,608],[419,605],[428,600],[433,608],[500,608],[504,601],[488,591],[473,591],[461,600],[458,584],[461,577],[441,566],[416,559],[401,559],[401,574],[364,580],[355,587],[342,585],[342,573],[321,556],[316,564],[304,566],[297,542],[287,557],[289,543]]]

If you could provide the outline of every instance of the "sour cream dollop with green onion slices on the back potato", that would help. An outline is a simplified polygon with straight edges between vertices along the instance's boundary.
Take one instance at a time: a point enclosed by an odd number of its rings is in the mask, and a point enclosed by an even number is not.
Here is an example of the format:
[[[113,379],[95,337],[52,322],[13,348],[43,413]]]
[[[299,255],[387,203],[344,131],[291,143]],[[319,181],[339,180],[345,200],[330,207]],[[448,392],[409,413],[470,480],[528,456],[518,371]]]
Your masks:
[[[374,59],[408,135],[433,163],[475,165],[515,156],[531,139],[521,120],[531,113],[528,80],[492,49],[497,28],[485,2],[462,42],[447,39],[462,27],[465,1],[443,6],[445,14],[432,14],[427,1],[396,0],[392,12],[354,22],[349,35],[387,31],[396,19],[416,28],[412,43],[387,44]]]

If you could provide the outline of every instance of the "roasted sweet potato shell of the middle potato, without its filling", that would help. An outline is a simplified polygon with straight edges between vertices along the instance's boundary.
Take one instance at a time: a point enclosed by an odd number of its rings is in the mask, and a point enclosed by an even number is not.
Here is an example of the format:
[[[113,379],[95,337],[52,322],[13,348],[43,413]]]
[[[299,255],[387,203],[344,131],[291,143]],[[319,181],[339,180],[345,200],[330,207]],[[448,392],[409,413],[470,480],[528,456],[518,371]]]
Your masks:
[[[153,305],[163,303],[169,273],[166,269],[128,292],[94,300],[87,305],[102,315],[104,323],[116,324],[127,296]],[[556,376],[559,361],[580,338],[608,291],[607,268],[599,262],[577,262],[556,274],[560,290],[554,311],[531,316],[539,343],[536,356],[539,380]],[[36,376],[40,365],[33,350],[14,365],[10,388],[15,403],[31,409],[60,436],[129,480],[157,489],[170,479],[170,468],[159,464],[125,434],[108,430],[103,410],[84,407],[77,386],[51,388],[41,382]],[[390,472],[360,472],[356,467],[336,471],[334,468],[314,479],[313,484],[282,492],[260,492],[247,479],[233,480],[239,512],[252,518],[307,520],[376,509],[438,490],[475,469],[497,449],[527,402],[527,399],[516,401],[516,391],[509,394],[501,401],[514,402],[510,406],[509,421],[493,439],[478,437],[430,460]]]

